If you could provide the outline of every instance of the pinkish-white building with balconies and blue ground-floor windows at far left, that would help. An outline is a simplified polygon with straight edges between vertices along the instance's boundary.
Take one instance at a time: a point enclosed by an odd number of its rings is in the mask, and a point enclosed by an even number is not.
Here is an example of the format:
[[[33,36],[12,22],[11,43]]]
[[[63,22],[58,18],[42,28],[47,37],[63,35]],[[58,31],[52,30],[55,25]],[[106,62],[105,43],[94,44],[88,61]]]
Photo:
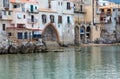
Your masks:
[[[38,28],[38,3],[27,0],[3,0],[1,25],[7,42],[21,43],[34,39]],[[2,33],[3,33],[2,32]],[[2,41],[2,40],[1,40]],[[2,41],[3,42],[3,41]]]

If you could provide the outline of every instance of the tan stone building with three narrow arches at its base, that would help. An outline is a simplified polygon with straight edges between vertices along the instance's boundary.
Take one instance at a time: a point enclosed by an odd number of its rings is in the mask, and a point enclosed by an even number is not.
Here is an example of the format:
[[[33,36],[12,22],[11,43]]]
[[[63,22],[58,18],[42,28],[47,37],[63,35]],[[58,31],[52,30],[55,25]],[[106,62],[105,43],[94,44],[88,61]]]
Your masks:
[[[75,42],[87,43],[100,38],[99,10],[96,0],[73,0]]]

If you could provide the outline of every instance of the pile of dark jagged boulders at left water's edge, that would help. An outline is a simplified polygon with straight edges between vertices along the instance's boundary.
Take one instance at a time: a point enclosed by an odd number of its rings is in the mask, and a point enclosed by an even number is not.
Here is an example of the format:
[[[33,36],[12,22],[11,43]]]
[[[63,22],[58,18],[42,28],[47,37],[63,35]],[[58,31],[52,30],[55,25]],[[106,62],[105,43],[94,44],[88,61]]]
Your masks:
[[[47,47],[41,42],[26,42],[21,44],[7,44],[0,46],[0,54],[26,54],[46,52]]]

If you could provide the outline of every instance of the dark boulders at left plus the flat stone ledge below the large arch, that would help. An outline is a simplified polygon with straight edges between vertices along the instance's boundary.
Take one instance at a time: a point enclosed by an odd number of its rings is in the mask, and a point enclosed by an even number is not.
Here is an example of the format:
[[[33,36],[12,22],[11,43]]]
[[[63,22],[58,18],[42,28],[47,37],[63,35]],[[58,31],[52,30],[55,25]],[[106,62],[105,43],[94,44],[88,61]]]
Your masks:
[[[63,52],[64,46],[57,42],[22,42],[21,44],[11,43],[0,45],[0,54],[29,54],[46,52]]]

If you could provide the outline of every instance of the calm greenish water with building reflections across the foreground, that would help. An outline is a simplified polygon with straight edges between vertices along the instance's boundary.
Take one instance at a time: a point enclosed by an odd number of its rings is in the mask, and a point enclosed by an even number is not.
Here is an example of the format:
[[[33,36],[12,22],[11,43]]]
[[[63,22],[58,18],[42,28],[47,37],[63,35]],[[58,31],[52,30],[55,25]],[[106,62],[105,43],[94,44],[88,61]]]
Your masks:
[[[120,47],[0,55],[0,79],[120,79]]]

